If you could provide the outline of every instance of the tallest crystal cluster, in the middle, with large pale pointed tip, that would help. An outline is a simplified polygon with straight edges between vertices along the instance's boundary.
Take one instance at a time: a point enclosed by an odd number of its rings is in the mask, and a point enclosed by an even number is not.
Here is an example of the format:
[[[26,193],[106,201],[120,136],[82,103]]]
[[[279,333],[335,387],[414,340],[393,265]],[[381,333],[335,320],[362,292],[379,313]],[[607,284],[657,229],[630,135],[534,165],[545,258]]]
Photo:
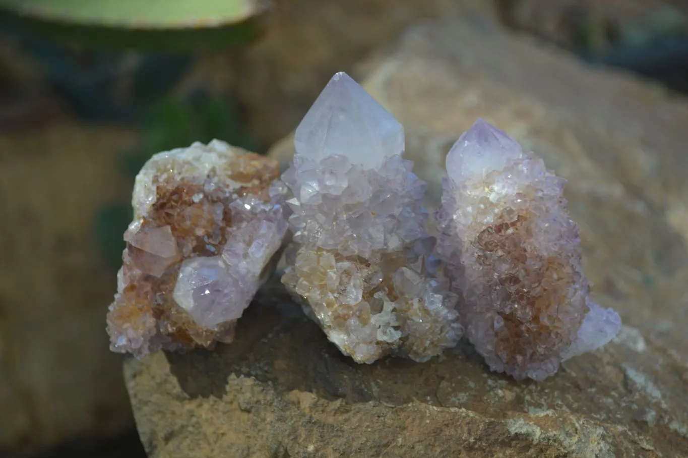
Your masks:
[[[402,159],[402,126],[335,74],[296,132],[283,180],[293,241],[282,282],[356,362],[429,360],[462,333],[456,295],[435,275],[425,183]]]

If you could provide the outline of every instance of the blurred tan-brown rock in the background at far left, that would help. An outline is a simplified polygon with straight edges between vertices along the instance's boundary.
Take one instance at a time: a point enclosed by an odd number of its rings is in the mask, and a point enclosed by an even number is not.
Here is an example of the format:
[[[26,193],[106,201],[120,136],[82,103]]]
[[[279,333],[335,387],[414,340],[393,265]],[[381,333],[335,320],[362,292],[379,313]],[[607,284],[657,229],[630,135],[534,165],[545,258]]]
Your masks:
[[[133,426],[93,225],[101,205],[127,198],[116,167],[134,141],[73,123],[0,136],[0,455]]]

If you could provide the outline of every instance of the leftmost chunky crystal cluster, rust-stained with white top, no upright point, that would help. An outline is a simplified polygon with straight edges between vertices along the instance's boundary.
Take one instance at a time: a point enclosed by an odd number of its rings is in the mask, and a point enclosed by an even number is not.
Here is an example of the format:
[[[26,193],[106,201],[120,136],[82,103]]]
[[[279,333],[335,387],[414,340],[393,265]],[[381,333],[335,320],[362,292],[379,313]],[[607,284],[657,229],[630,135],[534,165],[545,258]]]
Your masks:
[[[275,160],[219,140],[153,156],[133,189],[111,350],[143,357],[231,342],[277,260],[287,192]]]

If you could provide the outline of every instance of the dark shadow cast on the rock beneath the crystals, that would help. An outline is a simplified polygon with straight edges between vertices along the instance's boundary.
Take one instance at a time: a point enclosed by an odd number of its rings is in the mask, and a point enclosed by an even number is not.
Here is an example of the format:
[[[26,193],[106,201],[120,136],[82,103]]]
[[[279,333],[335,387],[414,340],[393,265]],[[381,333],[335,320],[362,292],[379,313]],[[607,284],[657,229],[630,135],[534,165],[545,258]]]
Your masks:
[[[352,404],[374,401],[397,406],[420,401],[439,406],[443,405],[438,397],[443,382],[461,389],[468,384],[467,373],[473,373],[473,378],[489,373],[482,357],[464,340],[431,362],[386,357],[373,364],[357,364],[329,342],[281,284],[274,282],[246,309],[235,342],[219,344],[213,351],[166,353],[166,357],[171,373],[192,398],[222,398],[227,379],[234,374],[270,382],[277,391],[309,392]],[[515,384],[508,377],[490,377]]]

